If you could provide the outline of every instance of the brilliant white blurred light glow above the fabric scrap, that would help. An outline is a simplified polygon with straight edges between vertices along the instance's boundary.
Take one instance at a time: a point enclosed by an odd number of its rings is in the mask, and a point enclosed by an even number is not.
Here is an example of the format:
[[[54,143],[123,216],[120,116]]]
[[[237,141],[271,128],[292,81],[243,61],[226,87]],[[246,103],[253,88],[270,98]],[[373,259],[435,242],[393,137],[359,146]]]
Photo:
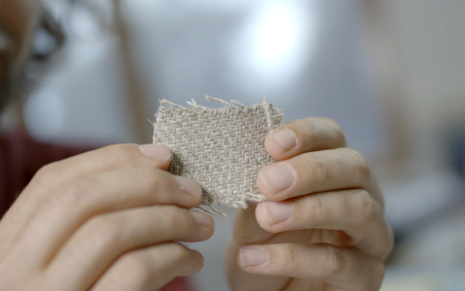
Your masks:
[[[233,65],[246,87],[286,85],[304,68],[315,38],[312,9],[299,1],[266,1],[238,31]]]

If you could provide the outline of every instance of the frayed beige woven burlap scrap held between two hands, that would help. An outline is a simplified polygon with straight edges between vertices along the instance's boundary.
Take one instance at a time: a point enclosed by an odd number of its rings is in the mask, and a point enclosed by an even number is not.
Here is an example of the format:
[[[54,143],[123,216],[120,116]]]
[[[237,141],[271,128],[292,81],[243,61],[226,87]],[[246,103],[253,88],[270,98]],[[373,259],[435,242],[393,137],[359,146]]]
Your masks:
[[[246,208],[248,203],[263,201],[257,174],[274,162],[264,141],[282,121],[282,110],[273,108],[266,99],[250,107],[207,99],[226,108],[205,108],[194,101],[187,102],[191,108],[184,108],[160,101],[153,143],[172,150],[170,172],[200,183],[203,205]]]

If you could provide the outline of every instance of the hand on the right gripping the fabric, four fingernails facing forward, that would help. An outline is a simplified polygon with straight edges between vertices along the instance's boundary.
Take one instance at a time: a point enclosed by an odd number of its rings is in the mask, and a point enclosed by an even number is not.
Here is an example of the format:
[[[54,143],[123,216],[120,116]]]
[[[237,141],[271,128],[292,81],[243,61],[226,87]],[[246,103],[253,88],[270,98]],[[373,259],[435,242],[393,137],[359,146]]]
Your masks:
[[[236,214],[226,250],[233,290],[375,291],[393,246],[382,193],[361,154],[326,118],[265,141],[278,162],[257,183],[268,202]]]

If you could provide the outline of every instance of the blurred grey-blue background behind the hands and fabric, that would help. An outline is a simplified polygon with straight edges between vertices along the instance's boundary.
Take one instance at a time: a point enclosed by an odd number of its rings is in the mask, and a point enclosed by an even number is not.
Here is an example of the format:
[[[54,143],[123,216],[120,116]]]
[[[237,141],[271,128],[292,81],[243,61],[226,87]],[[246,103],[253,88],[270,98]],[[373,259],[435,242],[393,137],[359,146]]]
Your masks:
[[[385,190],[397,236],[383,291],[465,290],[465,1],[44,0],[40,78],[2,127],[45,142],[151,142],[160,99],[269,102],[331,117]],[[55,23],[56,22],[56,23]],[[233,214],[231,209],[221,209]],[[231,218],[193,244],[227,290]]]

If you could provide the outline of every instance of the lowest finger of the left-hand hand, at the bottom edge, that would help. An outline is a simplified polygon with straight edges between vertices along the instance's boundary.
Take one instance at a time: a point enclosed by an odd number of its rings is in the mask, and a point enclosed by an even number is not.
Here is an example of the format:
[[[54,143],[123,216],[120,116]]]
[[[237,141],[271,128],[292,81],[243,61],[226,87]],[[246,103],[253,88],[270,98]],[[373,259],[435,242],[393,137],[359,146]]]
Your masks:
[[[177,243],[135,250],[120,257],[91,291],[153,291],[176,277],[193,275],[204,259],[196,250]]]

